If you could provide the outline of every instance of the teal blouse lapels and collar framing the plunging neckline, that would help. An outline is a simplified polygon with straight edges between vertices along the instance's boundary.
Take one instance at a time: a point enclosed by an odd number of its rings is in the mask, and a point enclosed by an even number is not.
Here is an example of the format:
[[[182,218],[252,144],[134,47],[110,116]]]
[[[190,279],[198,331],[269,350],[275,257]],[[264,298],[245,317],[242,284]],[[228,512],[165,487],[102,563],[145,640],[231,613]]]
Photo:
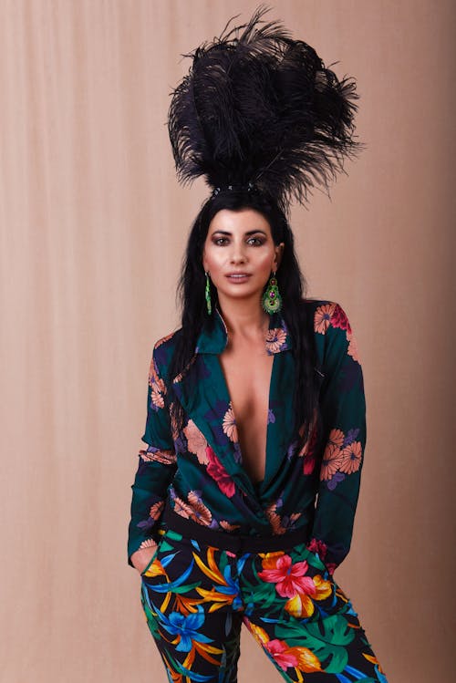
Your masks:
[[[271,316],[266,351],[274,355],[269,390],[264,481],[254,486],[242,464],[233,409],[219,355],[228,342],[228,331],[216,308],[202,329],[195,355],[187,370],[174,378],[173,387],[189,419],[202,432],[239,488],[249,497],[267,495],[280,470],[292,439],[294,361],[285,321]],[[287,353],[288,352],[288,353]]]

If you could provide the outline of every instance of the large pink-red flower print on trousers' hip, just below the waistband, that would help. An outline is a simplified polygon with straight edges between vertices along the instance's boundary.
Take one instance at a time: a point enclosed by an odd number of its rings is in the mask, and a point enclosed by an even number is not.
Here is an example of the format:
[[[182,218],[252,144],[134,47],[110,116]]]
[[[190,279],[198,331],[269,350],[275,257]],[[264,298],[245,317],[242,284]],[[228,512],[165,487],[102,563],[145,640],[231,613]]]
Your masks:
[[[308,564],[306,560],[292,564],[290,555],[283,554],[275,558],[275,568],[271,567],[274,559],[263,561],[263,572],[258,576],[268,584],[275,584],[275,590],[282,597],[294,597],[296,593],[315,595],[316,587],[310,576],[306,576]],[[266,568],[265,568],[266,567]]]

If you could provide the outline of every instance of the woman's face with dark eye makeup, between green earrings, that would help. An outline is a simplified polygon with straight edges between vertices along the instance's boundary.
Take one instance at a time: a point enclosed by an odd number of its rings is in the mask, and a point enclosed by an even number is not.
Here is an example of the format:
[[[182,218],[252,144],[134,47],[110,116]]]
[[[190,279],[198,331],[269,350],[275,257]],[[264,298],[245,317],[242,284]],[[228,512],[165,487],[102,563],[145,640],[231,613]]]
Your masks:
[[[202,253],[202,266],[209,272],[223,298],[261,299],[271,272],[277,270],[284,243],[275,245],[271,226],[254,209],[215,214]]]

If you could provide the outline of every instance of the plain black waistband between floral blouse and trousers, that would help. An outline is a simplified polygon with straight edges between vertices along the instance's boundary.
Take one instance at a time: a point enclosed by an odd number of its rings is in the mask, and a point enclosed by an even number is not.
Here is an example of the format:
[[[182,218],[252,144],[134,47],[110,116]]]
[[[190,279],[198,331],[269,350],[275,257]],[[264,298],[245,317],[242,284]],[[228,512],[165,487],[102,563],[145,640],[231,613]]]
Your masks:
[[[268,536],[247,536],[233,532],[218,532],[202,526],[193,520],[181,517],[173,512],[168,505],[163,512],[163,522],[167,529],[181,533],[186,538],[212,545],[221,550],[234,554],[239,553],[269,553],[276,550],[286,550],[306,542],[306,529],[294,532],[275,533]]]

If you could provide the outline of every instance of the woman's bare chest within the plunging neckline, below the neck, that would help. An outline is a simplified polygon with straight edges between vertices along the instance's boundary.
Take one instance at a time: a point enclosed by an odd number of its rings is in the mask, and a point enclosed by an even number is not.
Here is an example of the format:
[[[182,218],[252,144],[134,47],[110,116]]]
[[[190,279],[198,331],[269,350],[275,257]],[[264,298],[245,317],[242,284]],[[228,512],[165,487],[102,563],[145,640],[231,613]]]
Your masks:
[[[258,344],[229,345],[220,355],[234,418],[243,466],[252,481],[264,479],[269,388],[274,356]]]

